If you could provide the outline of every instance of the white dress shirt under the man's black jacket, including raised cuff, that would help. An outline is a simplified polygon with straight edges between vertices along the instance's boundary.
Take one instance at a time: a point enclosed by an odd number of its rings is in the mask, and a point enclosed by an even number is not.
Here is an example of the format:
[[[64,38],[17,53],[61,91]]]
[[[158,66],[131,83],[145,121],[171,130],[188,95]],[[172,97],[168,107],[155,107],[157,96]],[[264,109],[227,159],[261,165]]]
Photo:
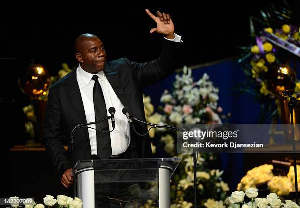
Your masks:
[[[167,38],[166,38],[167,39]],[[175,42],[182,42],[181,36],[175,34],[174,39],[167,39]],[[76,78],[79,85],[80,94],[82,97],[84,112],[87,122],[95,121],[94,101],[93,101],[93,88],[95,81],[92,80],[94,74],[86,72],[79,65],[76,70]],[[108,109],[114,107],[115,113],[115,129],[110,132],[112,155],[118,155],[127,149],[130,143],[130,127],[127,117],[122,113],[124,105],[114,92],[110,83],[108,82],[103,71],[97,73],[99,76],[98,81],[101,85],[104,95],[107,115],[109,116]],[[108,121],[109,129],[112,130],[111,121]],[[92,128],[96,128],[96,124],[89,125]],[[92,155],[97,155],[97,136],[96,130],[88,128]]]

